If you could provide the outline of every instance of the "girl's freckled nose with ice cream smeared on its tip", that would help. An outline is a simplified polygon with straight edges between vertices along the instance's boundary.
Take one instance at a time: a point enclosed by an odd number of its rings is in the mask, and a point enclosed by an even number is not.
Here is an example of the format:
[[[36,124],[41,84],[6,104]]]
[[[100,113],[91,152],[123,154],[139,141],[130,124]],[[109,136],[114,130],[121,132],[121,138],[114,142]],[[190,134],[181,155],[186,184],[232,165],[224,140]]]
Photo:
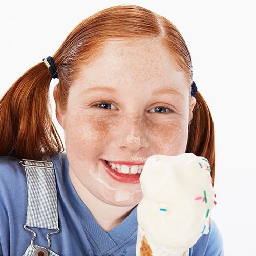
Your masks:
[[[131,152],[146,149],[149,146],[145,120],[142,117],[123,118],[117,134],[117,146]]]

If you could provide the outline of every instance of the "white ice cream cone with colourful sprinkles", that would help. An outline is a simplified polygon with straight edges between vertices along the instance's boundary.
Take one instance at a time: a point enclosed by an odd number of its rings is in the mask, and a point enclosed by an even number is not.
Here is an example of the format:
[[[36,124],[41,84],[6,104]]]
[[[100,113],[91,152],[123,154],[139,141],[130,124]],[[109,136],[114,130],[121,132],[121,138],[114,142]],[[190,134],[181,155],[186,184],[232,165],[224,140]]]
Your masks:
[[[137,256],[186,255],[209,232],[216,205],[207,159],[193,153],[151,156],[140,183],[143,199],[137,209]],[[145,241],[151,254],[142,253]]]

